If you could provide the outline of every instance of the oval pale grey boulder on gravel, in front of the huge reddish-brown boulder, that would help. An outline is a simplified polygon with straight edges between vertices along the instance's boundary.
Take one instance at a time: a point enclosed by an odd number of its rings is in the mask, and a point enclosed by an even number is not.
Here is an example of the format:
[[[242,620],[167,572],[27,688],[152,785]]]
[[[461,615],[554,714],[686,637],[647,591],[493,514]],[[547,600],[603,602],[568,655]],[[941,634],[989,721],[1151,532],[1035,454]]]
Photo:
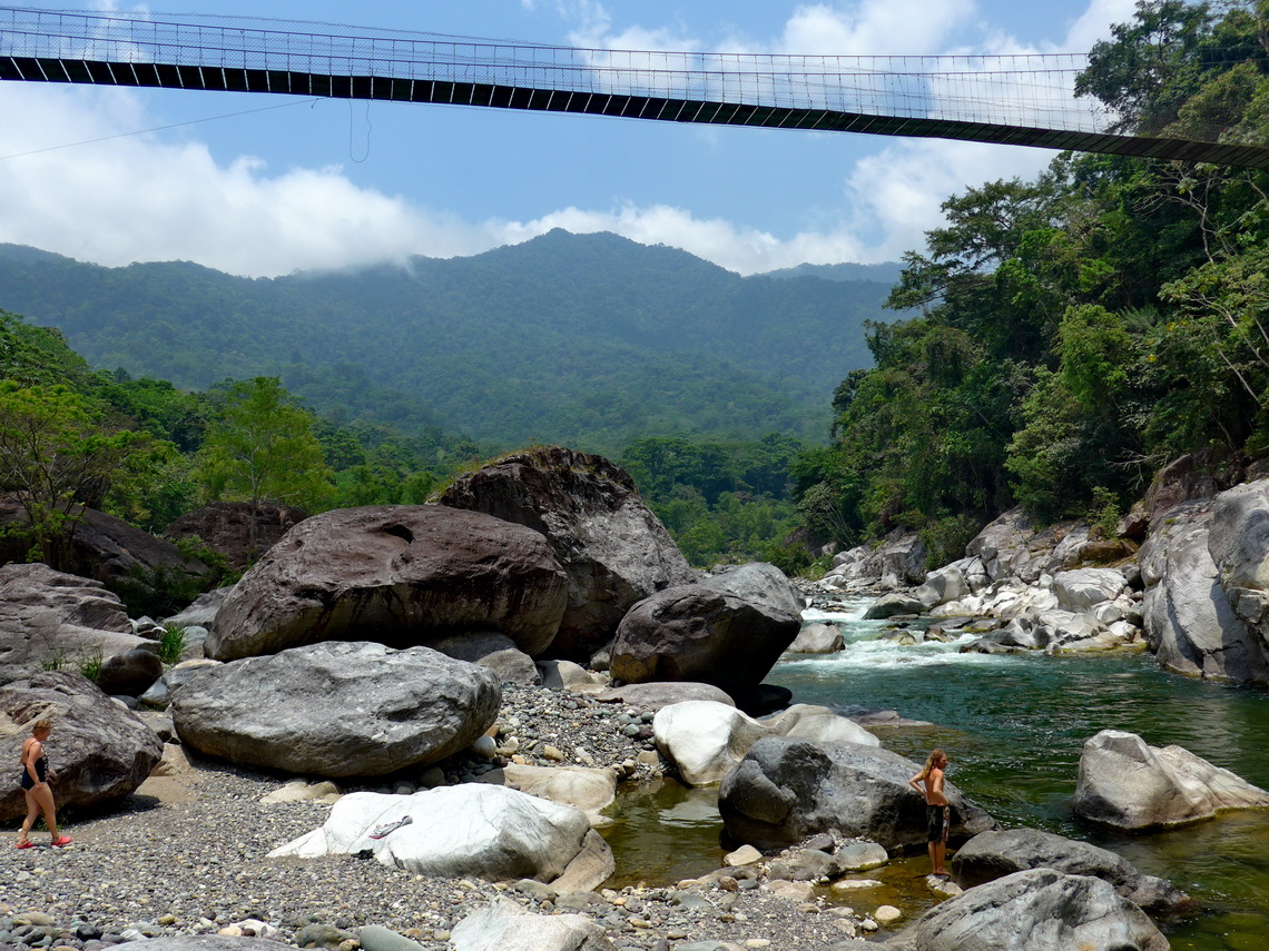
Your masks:
[[[183,743],[299,775],[379,776],[466,749],[494,725],[487,667],[425,647],[325,642],[207,668],[173,695]]]

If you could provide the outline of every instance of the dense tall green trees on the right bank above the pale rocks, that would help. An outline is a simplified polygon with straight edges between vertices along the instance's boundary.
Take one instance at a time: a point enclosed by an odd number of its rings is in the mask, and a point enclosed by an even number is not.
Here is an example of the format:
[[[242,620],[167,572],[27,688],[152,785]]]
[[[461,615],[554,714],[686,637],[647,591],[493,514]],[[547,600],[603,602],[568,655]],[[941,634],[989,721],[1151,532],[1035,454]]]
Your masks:
[[[1148,0],[1077,91],[1126,132],[1269,143],[1266,47],[1263,0]],[[890,299],[921,316],[869,328],[876,368],[794,465],[839,540],[902,525],[954,558],[1015,502],[1080,515],[1180,453],[1269,453],[1269,175],[1062,155],[943,210]]]

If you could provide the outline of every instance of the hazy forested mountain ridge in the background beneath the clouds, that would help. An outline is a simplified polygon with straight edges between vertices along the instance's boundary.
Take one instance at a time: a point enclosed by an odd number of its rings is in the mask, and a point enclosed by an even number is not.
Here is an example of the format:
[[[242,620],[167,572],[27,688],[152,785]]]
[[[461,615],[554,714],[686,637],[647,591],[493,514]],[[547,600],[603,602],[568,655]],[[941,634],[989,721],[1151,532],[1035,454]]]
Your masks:
[[[206,388],[279,375],[336,418],[613,451],[650,434],[820,439],[890,285],[741,278],[555,231],[462,259],[245,279],[0,246],[0,307],[96,366]]]

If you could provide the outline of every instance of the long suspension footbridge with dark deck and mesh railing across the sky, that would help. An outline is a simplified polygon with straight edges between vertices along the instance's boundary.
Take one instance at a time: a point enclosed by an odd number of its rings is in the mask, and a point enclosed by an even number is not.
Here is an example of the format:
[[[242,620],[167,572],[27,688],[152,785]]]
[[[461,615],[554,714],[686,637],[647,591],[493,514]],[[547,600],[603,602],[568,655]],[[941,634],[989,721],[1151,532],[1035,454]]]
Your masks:
[[[1086,55],[585,49],[214,15],[0,6],[0,81],[270,93],[876,136],[1269,169],[1223,129],[1126,134]]]

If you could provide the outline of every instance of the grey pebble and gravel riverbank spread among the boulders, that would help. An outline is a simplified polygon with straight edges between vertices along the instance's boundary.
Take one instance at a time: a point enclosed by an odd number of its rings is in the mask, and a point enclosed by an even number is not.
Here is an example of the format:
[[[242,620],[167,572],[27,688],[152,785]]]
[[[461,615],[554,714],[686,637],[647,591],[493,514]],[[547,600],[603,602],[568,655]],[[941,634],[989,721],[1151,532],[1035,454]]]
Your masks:
[[[640,737],[643,713],[511,689],[504,718],[520,721],[530,761],[549,762],[556,753],[574,760],[581,751],[599,766],[633,760],[646,776],[651,757],[631,756],[647,742]],[[471,758],[444,767],[453,779],[483,768]],[[750,869],[702,869],[702,880],[674,888],[556,895],[541,883],[435,879],[349,856],[269,858],[329,813],[317,801],[261,801],[286,781],[194,761],[185,772],[152,777],[110,810],[65,815],[75,838],[67,848],[0,850],[0,947],[94,951],[141,937],[241,933],[349,951],[362,927],[378,924],[421,947],[448,948],[458,922],[499,898],[539,914],[580,914],[618,948],[727,942],[815,951],[851,947],[853,933],[887,932],[872,918],[815,900],[810,886],[760,888]]]

